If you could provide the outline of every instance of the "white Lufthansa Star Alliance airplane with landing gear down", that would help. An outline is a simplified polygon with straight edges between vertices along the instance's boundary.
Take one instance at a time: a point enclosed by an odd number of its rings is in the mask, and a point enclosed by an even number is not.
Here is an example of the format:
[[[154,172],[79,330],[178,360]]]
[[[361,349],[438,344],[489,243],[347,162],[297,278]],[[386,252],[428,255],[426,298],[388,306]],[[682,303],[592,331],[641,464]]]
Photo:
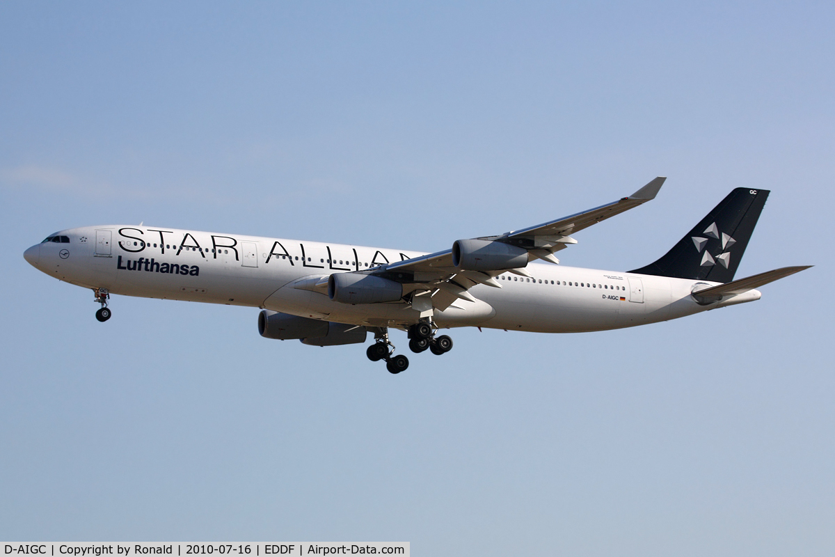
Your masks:
[[[434,253],[177,230],[99,225],[56,232],[23,257],[60,281],[90,288],[96,318],[111,294],[261,308],[262,337],[312,346],[374,342],[372,362],[394,374],[389,329],[412,352],[442,355],[441,329],[591,332],[668,321],[759,300],[756,289],[810,266],[734,280],[768,190],[736,188],[650,265],[603,271],[559,265],[571,235],[655,199],[665,177],[634,194],[561,219],[453,242]]]

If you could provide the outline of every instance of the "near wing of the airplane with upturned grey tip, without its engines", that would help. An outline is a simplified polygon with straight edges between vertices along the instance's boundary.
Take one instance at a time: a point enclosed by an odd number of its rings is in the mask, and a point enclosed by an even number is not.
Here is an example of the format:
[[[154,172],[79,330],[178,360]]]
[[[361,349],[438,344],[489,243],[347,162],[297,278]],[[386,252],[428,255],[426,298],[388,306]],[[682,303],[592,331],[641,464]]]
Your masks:
[[[404,293],[411,292],[412,297],[417,294],[425,299],[424,295],[428,294],[431,296],[432,306],[440,310],[446,309],[458,299],[475,301],[475,298],[468,293],[473,286],[485,284],[501,288],[502,286],[493,277],[506,271],[521,276],[530,276],[527,271],[524,271],[524,266],[534,259],[559,263],[554,253],[569,244],[577,243],[570,234],[655,199],[664,180],[666,180],[665,177],[659,176],[634,194],[595,207],[595,209],[550,220],[522,230],[513,230],[503,235],[473,238],[473,241],[481,241],[482,244],[495,243],[495,245],[511,246],[508,249],[518,252],[521,250],[521,253],[526,252],[524,264],[513,268],[465,269],[460,264],[455,264],[453,250],[450,249],[362,272],[401,282]]]

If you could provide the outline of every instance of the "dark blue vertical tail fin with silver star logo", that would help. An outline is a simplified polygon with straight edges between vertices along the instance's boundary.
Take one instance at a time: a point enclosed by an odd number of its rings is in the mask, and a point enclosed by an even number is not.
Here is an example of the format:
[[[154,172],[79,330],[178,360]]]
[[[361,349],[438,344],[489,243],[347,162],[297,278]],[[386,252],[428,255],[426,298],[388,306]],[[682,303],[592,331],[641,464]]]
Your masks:
[[[769,193],[768,190],[736,188],[665,256],[630,272],[732,281]]]

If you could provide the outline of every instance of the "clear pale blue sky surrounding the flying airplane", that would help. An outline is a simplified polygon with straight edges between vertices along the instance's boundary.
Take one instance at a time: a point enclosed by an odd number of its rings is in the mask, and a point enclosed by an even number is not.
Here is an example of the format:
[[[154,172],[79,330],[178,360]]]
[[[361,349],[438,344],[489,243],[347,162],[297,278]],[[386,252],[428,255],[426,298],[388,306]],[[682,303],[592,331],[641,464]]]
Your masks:
[[[833,12],[0,4],[0,539],[832,554]],[[645,265],[742,186],[772,194],[737,276],[815,267],[633,330],[453,331],[394,377],[254,308],[103,325],[22,257],[139,221],[437,251],[656,175],[564,264]]]

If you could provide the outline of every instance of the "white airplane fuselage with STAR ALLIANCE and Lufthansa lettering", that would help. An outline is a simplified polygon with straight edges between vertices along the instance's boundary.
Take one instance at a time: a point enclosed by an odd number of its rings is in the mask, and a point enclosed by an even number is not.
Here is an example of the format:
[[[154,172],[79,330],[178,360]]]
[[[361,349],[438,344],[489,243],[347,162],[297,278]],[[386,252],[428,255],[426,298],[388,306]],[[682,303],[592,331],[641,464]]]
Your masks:
[[[135,225],[64,230],[68,243],[29,248],[27,260],[59,280],[112,294],[254,306],[329,322],[402,327],[417,322],[405,302],[349,305],[311,288],[316,277],[362,271],[421,252]],[[693,286],[714,282],[530,264],[530,277],[497,276],[478,285],[477,301],[436,311],[438,327],[478,326],[530,332],[588,332],[666,321],[757,300],[747,291],[706,306]]]

